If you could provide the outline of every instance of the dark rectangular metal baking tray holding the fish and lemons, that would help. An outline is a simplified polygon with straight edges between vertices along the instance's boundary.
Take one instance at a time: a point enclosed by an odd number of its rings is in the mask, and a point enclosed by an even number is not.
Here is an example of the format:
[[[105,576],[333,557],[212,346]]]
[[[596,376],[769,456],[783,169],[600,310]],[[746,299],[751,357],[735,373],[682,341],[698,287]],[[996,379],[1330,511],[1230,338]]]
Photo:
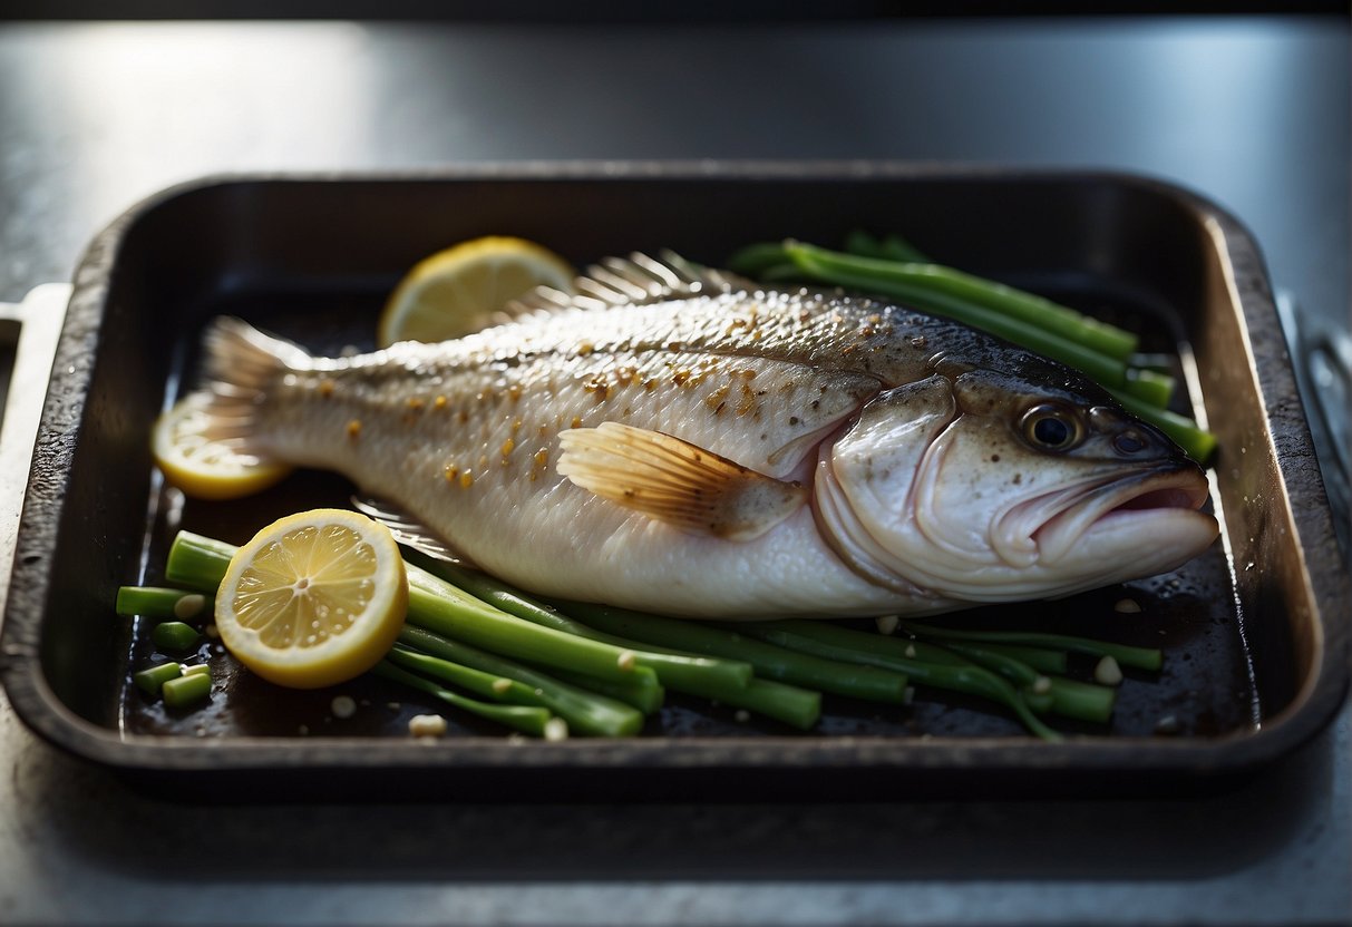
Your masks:
[[[718,264],[783,236],[838,243],[902,231],[937,259],[1096,312],[1178,354],[1183,411],[1209,420],[1222,539],[1180,570],[1059,603],[955,616],[1045,624],[1165,649],[1132,677],[1110,728],[1064,743],[921,693],[879,711],[827,700],[807,734],[672,697],[631,741],[522,743],[376,680],[293,693],[204,655],[211,704],[166,715],[128,685],[151,657],[118,619],[126,582],[154,582],[173,531],[237,543],[281,513],[342,504],[301,473],[238,503],[184,501],[151,465],[157,412],[185,391],[203,326],[241,315],[319,351],[366,346],[396,280],[483,234],[531,238],[585,265],[673,249]],[[1195,365],[1192,361],[1195,359]],[[568,164],[434,176],[223,177],[168,191],[103,231],[57,346],[0,641],[22,719],[135,782],[204,800],[781,797],[955,792],[1140,793],[1215,788],[1286,755],[1347,685],[1348,582],[1272,291],[1253,239],[1215,205],[1149,178],[896,164]],[[1117,613],[1130,597],[1140,615]],[[1164,722],[1164,724],[1161,724]]]

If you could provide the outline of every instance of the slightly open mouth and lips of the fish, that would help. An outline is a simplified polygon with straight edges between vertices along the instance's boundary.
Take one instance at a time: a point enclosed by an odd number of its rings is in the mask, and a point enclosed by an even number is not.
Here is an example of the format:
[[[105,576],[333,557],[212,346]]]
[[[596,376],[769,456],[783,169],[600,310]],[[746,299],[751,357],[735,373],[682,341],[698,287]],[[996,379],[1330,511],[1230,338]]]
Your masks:
[[[1026,515],[1041,509],[1041,524],[1030,538],[1037,559],[1048,566],[1109,553],[1124,542],[1152,562],[1176,566],[1175,561],[1190,559],[1220,531],[1215,519],[1199,511],[1209,489],[1206,476],[1191,465],[1080,484],[1049,496],[1025,504],[1030,507]]]

